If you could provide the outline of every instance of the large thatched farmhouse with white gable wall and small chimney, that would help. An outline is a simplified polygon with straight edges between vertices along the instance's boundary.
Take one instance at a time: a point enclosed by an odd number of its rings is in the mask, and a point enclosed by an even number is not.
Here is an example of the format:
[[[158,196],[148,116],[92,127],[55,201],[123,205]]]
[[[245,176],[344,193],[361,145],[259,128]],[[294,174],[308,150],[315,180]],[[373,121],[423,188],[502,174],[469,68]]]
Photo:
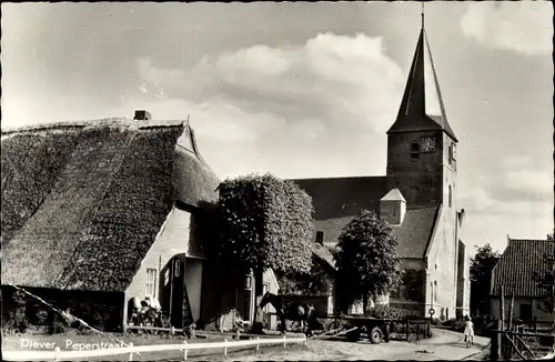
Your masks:
[[[16,285],[105,329],[125,325],[132,296],[158,298],[175,326],[201,318],[198,219],[219,180],[189,124],[138,111],[2,130],[1,147],[3,302]]]

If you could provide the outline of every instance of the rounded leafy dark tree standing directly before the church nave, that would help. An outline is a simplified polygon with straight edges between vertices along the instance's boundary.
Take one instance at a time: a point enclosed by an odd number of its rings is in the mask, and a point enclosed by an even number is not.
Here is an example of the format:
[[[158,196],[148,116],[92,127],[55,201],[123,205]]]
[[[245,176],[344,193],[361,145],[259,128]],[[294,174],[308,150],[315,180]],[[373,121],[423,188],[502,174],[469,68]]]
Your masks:
[[[343,311],[362,301],[369,310],[369,296],[374,301],[395,290],[401,282],[401,258],[391,228],[373,211],[362,210],[347,223],[339,238],[334,254],[337,267],[337,295]]]

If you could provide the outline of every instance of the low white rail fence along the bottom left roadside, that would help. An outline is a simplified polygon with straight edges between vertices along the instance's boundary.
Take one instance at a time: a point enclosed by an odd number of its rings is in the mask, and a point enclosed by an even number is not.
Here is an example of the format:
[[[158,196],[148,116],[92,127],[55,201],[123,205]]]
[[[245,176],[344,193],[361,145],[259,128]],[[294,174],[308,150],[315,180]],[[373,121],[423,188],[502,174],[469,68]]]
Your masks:
[[[137,345],[120,348],[120,349],[104,349],[91,351],[60,351],[56,348],[54,351],[2,351],[2,359],[4,361],[68,361],[71,359],[84,360],[95,356],[121,355],[129,354],[129,361],[133,361],[133,353],[141,352],[168,352],[180,351],[183,352],[183,360],[186,361],[188,351],[190,350],[209,350],[209,349],[223,349],[223,355],[228,355],[229,349],[234,346],[256,346],[256,351],[261,345],[283,344],[285,348],[287,343],[303,343],[306,345],[306,336],[302,338],[280,338],[280,339],[260,339],[246,341],[228,341],[211,342],[211,343],[188,343],[184,341],[181,344],[158,344],[158,345]]]

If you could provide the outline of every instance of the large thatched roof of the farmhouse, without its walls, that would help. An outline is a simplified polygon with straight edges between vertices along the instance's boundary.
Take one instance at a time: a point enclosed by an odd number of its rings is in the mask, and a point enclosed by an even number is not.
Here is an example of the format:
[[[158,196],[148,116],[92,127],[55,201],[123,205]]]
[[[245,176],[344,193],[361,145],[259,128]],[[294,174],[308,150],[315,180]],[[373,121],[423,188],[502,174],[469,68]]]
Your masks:
[[[176,148],[183,129],[110,119],[2,130],[2,283],[127,289],[174,195],[215,199],[213,172]]]

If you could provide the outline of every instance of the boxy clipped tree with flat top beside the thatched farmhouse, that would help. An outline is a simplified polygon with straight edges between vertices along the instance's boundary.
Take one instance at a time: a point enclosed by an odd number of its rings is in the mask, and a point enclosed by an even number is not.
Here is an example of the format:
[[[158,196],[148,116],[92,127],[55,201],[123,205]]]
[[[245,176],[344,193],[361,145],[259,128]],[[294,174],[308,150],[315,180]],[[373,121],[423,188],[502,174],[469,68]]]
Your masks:
[[[214,242],[206,253],[222,269],[252,268],[255,295],[266,269],[309,273],[312,268],[312,199],[292,181],[272,174],[228,179],[219,185]],[[231,268],[231,269],[230,269]]]

